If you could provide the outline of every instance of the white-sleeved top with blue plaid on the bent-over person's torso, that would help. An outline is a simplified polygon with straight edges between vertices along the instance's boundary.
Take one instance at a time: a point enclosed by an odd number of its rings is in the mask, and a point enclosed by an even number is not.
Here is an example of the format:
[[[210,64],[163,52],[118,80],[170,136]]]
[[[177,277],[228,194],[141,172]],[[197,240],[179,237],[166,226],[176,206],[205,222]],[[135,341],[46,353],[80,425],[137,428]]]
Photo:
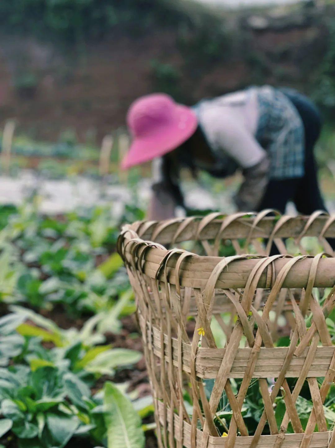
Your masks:
[[[271,86],[250,87],[231,97],[203,100],[193,107],[223,177],[258,164],[266,153],[270,179],[302,177],[304,126],[288,97]]]

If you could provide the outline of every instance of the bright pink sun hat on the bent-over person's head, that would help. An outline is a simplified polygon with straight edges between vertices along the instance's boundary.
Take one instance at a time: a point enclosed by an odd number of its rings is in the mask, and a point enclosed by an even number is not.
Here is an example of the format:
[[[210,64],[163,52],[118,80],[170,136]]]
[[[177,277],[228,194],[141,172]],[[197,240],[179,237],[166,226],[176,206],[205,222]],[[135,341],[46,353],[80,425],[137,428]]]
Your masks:
[[[133,102],[127,114],[133,142],[122,168],[148,162],[176,149],[197,129],[191,108],[175,103],[169,95],[156,93]]]

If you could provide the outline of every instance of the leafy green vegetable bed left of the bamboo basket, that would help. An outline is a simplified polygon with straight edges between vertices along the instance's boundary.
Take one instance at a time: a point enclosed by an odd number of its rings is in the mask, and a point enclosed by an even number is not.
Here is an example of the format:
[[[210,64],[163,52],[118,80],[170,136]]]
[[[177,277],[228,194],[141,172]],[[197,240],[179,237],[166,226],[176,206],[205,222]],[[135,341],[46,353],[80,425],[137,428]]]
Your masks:
[[[108,207],[0,207],[2,446],[156,446],[119,228]]]

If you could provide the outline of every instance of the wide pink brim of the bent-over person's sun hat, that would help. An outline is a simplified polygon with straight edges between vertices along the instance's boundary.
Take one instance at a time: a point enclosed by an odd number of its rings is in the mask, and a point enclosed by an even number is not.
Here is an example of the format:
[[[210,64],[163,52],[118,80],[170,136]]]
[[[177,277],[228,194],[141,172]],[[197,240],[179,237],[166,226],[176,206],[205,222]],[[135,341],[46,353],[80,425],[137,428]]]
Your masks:
[[[135,138],[121,168],[131,168],[173,151],[194,133],[197,126],[197,116],[192,109],[178,105],[176,122],[156,134]]]

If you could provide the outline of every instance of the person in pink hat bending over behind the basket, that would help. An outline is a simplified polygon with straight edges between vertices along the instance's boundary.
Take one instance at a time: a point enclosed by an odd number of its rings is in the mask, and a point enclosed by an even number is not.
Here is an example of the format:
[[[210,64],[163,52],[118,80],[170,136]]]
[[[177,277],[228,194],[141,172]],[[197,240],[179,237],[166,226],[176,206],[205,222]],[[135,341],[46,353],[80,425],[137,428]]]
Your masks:
[[[198,170],[217,178],[241,170],[234,197],[240,211],[284,213],[290,200],[305,215],[325,210],[314,159],[320,115],[295,90],[252,86],[193,107],[146,95],[130,106],[127,123],[133,141],[122,167],[153,160],[149,219],[172,218],[185,207],[182,167],[195,177]]]

